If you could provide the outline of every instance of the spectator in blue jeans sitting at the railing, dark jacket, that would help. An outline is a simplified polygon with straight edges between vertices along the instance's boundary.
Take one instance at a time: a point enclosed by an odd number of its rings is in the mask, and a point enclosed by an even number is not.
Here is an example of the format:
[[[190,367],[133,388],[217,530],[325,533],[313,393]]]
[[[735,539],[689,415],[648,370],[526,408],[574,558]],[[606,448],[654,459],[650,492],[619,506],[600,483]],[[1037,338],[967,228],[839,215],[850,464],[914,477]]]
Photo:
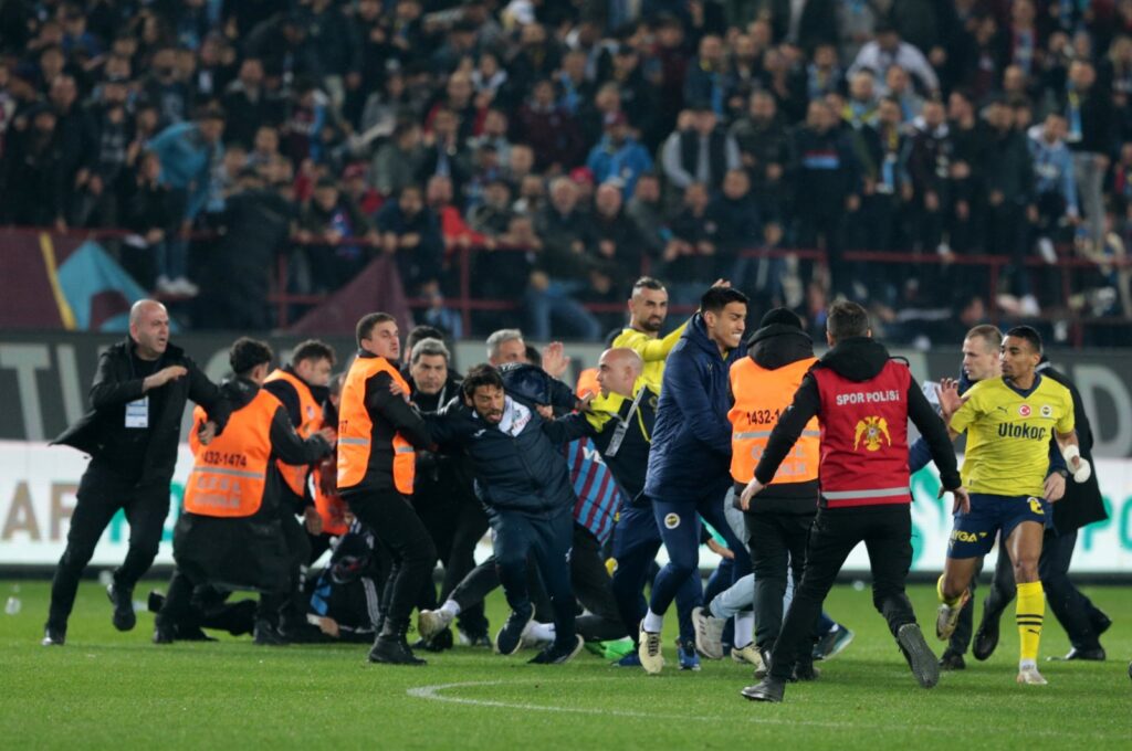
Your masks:
[[[558,176],[550,183],[550,204],[534,221],[542,250],[525,296],[525,329],[533,339],[560,336],[555,321],[578,339],[601,337],[598,320],[577,302],[590,283],[595,247],[593,227],[580,218],[577,202],[577,187],[569,178]]]

